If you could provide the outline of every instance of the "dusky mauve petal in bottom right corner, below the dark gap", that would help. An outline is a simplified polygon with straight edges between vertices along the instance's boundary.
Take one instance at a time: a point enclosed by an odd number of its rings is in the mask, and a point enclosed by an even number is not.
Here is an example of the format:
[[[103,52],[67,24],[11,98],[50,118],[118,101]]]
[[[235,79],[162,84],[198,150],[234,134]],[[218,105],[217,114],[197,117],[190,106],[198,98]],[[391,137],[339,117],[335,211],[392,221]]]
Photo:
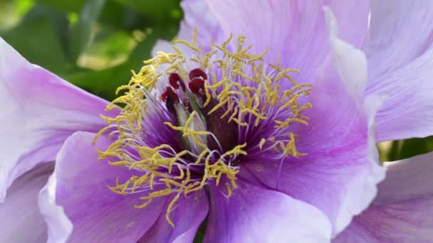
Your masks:
[[[387,166],[373,204],[333,242],[431,242],[433,153]]]

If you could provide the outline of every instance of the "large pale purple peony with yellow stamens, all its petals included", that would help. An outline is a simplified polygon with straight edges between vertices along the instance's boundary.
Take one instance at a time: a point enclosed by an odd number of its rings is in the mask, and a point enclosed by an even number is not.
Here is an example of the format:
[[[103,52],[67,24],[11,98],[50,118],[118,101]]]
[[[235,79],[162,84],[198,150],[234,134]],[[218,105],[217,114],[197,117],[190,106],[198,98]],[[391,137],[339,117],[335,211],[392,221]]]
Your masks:
[[[203,222],[205,242],[433,237],[432,155],[380,183],[375,148],[432,134],[433,8],[182,7],[185,41],[155,46],[120,107],[0,42],[6,241],[192,242]]]

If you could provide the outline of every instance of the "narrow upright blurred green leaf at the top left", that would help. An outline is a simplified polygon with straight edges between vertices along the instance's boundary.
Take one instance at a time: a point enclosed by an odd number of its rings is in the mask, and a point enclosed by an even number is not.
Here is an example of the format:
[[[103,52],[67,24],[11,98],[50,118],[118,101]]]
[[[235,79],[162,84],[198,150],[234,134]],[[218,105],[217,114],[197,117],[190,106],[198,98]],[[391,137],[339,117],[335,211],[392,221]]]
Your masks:
[[[71,29],[70,55],[76,63],[80,54],[88,47],[92,34],[92,27],[98,19],[105,0],[89,0],[83,6],[78,23]]]

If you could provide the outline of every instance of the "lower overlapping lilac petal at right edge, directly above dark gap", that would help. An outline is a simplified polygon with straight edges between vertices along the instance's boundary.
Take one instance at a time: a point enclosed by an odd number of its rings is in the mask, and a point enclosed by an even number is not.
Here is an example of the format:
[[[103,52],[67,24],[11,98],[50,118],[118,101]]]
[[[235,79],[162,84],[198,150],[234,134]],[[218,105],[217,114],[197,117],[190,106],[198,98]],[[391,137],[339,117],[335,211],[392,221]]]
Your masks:
[[[386,77],[374,78],[367,94],[387,95],[377,113],[377,141],[433,134],[433,49]]]

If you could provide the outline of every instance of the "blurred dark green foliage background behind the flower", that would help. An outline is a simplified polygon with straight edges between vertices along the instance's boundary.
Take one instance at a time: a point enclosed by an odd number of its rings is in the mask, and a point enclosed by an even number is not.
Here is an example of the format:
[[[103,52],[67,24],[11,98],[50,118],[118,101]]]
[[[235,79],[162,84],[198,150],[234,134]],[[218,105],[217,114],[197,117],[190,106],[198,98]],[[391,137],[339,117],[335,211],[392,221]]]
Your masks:
[[[180,0],[0,0],[0,36],[31,63],[112,100],[150,58],[157,39],[172,40]],[[382,161],[433,151],[433,138],[379,144]]]

